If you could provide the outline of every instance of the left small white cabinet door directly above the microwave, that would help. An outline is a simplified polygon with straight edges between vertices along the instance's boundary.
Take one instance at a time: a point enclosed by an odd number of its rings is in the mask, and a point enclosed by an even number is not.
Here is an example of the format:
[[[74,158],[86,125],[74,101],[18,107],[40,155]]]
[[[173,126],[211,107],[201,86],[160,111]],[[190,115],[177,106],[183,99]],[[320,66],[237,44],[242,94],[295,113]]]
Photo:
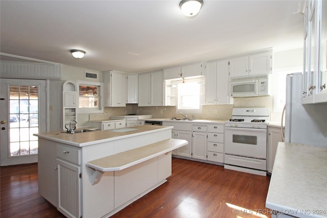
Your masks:
[[[229,77],[248,76],[249,56],[231,58],[229,60]]]

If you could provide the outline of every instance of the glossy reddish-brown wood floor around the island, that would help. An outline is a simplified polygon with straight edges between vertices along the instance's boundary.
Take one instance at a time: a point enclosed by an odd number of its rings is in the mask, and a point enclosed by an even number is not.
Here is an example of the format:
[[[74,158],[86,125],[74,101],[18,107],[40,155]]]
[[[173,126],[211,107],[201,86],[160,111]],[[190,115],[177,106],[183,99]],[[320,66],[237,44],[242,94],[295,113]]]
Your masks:
[[[2,218],[64,217],[38,194],[37,164],[5,166],[0,173]],[[112,217],[271,217],[265,208],[269,181],[173,158],[168,182]]]

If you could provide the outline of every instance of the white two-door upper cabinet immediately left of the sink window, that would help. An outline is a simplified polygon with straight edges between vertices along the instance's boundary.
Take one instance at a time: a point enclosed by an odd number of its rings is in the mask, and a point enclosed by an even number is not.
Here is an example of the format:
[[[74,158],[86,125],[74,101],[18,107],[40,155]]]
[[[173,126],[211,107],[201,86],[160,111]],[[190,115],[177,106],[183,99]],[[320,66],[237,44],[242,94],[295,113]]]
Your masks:
[[[162,70],[138,75],[138,106],[164,105],[164,73]]]

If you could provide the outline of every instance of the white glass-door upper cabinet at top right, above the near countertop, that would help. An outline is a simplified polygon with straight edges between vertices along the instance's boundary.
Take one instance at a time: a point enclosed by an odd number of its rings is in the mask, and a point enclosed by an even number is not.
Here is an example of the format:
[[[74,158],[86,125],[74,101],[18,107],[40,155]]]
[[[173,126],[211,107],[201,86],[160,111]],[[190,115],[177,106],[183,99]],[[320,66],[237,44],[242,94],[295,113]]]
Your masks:
[[[306,1],[303,104],[327,102],[327,2]]]

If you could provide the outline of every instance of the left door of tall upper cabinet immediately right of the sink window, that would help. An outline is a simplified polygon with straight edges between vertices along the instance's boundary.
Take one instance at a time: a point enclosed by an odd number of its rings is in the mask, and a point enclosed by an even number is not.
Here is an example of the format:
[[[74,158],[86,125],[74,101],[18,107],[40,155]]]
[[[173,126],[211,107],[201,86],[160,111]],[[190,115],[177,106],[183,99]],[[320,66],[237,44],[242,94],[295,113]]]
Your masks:
[[[216,100],[217,100],[217,61],[213,61],[213,62],[207,62],[205,65],[205,104],[215,105]]]

